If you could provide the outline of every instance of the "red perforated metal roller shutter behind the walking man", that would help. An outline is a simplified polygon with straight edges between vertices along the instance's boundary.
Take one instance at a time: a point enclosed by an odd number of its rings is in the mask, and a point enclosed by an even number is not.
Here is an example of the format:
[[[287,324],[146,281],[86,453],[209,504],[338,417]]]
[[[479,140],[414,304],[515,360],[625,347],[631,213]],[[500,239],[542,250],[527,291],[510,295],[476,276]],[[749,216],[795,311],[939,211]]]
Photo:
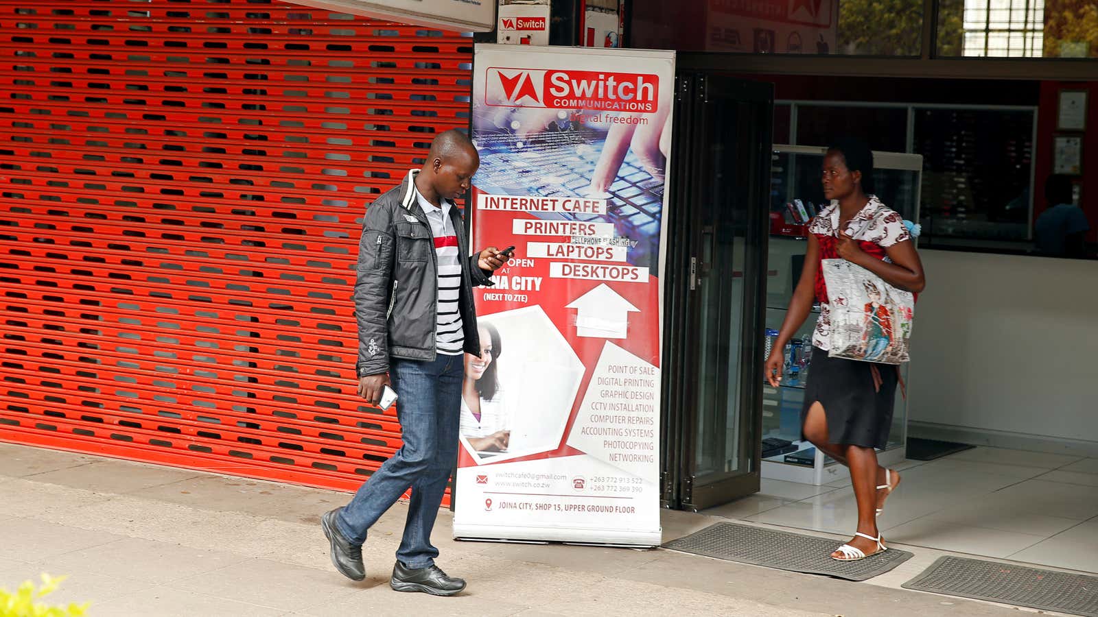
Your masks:
[[[264,0],[0,0],[0,439],[354,489],[360,217],[471,40]]]

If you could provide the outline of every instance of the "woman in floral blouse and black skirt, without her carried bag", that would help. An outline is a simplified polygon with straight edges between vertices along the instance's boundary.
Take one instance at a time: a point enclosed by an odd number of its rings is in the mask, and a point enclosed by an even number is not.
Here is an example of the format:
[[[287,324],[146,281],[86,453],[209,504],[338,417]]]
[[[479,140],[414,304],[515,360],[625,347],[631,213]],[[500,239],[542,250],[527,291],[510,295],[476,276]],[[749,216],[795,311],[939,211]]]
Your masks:
[[[777,388],[781,350],[808,318],[814,301],[819,302],[802,427],[806,439],[850,469],[858,500],[858,530],[831,557],[854,561],[886,550],[876,516],[899,484],[899,474],[877,464],[874,448],[884,448],[888,440],[899,373],[890,364],[828,357],[831,318],[820,261],[845,259],[914,293],[923,290],[926,279],[903,217],[872,194],[873,154],[869,147],[853,141],[836,144],[824,159],[822,171],[824,197],[831,205],[809,225],[804,271],[766,359],[765,374]]]

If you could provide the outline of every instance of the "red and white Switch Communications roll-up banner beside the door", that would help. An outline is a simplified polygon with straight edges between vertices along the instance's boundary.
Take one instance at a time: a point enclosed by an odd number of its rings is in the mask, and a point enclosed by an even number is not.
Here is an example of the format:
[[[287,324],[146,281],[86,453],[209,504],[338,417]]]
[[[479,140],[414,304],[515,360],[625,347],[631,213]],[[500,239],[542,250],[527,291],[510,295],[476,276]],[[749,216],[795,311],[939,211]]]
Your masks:
[[[674,54],[478,45],[477,295],[453,535],[660,543]]]

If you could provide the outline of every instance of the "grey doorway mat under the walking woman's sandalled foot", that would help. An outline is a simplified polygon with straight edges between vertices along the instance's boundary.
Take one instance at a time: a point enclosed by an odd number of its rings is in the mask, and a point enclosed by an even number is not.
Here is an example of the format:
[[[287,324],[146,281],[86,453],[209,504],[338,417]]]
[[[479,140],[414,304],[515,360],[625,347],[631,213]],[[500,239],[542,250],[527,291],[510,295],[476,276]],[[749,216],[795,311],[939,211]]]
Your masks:
[[[848,581],[872,579],[911,559],[910,552],[888,549],[860,561],[836,561],[831,559],[831,552],[841,543],[841,540],[829,538],[717,523],[672,540],[663,548]]]

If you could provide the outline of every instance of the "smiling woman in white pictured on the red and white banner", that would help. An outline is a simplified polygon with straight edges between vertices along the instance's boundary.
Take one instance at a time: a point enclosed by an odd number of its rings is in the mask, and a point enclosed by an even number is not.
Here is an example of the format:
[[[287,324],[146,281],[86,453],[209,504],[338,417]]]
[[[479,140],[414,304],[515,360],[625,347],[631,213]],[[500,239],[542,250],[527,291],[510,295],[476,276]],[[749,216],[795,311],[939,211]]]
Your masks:
[[[478,452],[503,452],[511,438],[507,412],[500,394],[497,360],[503,352],[500,332],[488,322],[480,328],[480,356],[466,354],[461,385],[461,435]]]

